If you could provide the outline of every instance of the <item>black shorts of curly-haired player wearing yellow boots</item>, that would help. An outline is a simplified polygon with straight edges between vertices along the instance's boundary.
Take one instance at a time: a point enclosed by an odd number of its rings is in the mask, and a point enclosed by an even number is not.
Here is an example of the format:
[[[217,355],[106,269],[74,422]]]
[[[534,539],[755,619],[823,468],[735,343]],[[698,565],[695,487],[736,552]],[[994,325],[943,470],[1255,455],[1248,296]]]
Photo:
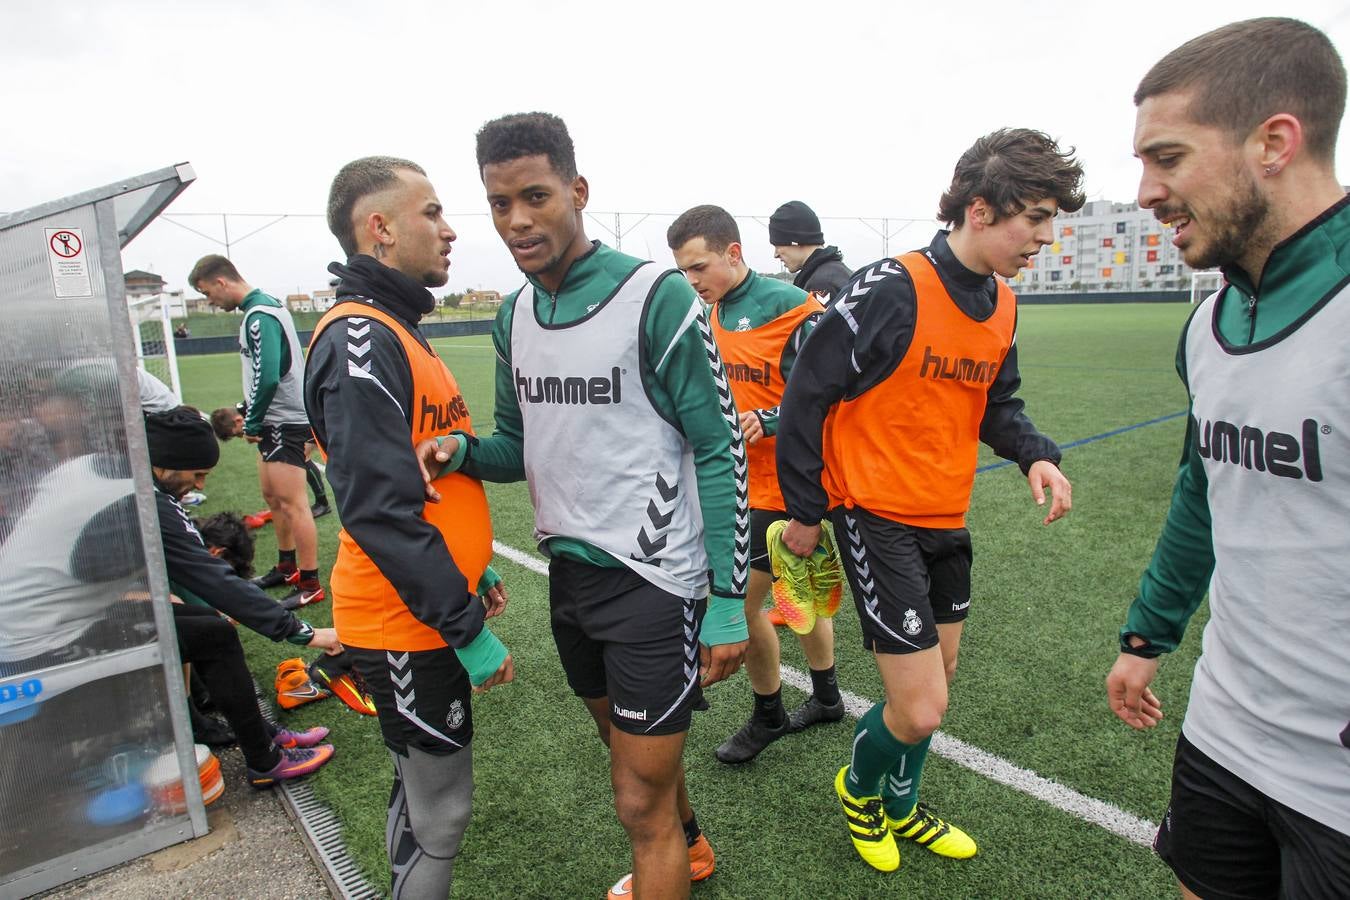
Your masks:
[[[938,623],[969,614],[968,530],[914,528],[842,506],[833,521],[868,650],[926,650],[937,645]]]

